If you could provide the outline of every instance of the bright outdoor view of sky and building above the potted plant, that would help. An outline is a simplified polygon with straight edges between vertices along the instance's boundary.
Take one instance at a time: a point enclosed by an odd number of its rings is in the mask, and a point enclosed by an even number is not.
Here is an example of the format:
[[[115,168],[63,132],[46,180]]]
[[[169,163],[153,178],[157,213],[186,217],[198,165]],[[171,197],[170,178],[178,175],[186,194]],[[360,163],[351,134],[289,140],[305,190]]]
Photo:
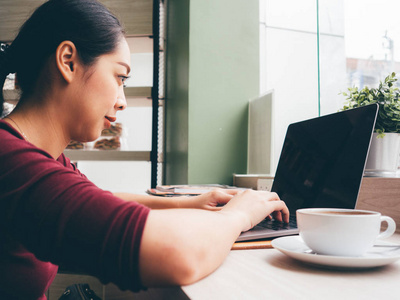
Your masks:
[[[400,72],[400,3],[347,0],[344,8],[347,84],[376,87]]]

